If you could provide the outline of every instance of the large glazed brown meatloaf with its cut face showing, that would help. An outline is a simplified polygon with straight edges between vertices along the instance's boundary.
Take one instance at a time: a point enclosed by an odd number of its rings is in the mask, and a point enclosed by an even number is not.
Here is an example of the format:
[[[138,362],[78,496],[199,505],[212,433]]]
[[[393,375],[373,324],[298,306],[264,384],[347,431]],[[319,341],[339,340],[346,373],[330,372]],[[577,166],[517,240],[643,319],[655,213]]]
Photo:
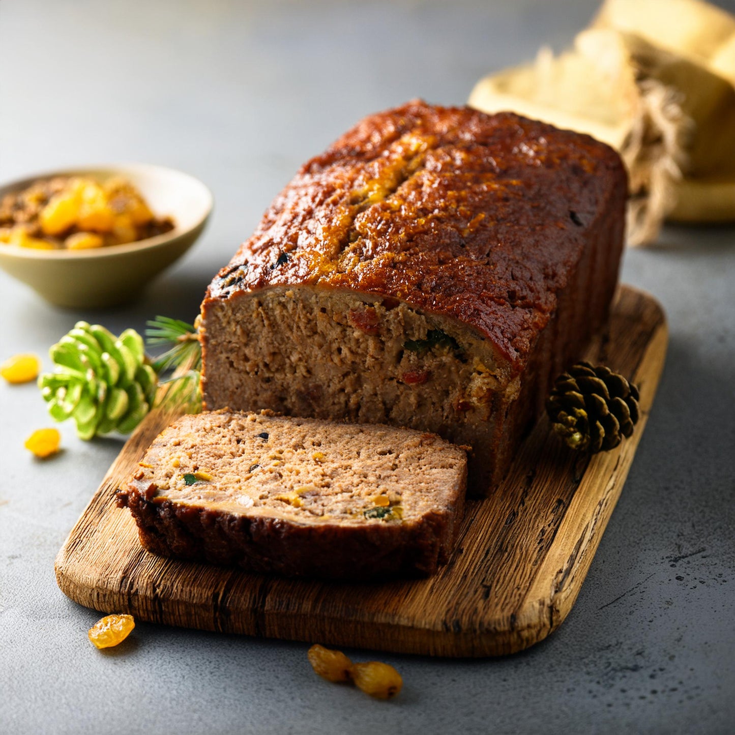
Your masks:
[[[626,192],[612,148],[509,112],[365,118],[210,284],[206,406],[433,431],[488,492],[606,319]]]

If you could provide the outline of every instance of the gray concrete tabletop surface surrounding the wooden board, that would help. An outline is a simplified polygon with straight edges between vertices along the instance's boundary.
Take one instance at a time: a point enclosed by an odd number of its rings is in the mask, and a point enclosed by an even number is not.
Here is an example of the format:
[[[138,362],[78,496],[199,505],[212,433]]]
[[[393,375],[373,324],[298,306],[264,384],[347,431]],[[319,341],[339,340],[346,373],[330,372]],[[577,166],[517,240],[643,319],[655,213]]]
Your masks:
[[[217,204],[198,246],[126,309],[60,311],[0,274],[0,358],[45,354],[77,318],[193,318],[306,157],[407,98],[464,101],[486,71],[569,42],[595,4],[3,0],[0,179],[140,160],[201,177]],[[49,425],[45,406],[3,382],[0,732],[734,732],[734,273],[732,227],[672,227],[628,251],[623,279],[661,300],[670,351],[576,607],[506,659],[379,656],[406,682],[390,703],[321,681],[301,643],[140,623],[93,649],[98,614],[61,594],[53,561],[121,442],[64,425],[63,453],[34,461],[22,442]]]

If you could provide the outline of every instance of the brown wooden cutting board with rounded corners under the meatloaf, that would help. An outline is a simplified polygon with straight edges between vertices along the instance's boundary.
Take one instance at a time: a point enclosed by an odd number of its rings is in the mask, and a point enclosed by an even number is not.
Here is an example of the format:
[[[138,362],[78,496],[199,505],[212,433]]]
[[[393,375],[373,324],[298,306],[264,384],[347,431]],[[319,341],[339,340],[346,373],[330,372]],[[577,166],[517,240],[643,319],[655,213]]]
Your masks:
[[[468,503],[456,551],[429,579],[334,584],[259,576],[144,551],[115,489],[176,415],[135,431],[56,560],[65,595],[102,612],[209,631],[433,656],[497,656],[544,639],[567,616],[640,440],[667,345],[659,304],[621,287],[587,359],[638,384],[631,439],[590,459],[543,417],[491,498]]]

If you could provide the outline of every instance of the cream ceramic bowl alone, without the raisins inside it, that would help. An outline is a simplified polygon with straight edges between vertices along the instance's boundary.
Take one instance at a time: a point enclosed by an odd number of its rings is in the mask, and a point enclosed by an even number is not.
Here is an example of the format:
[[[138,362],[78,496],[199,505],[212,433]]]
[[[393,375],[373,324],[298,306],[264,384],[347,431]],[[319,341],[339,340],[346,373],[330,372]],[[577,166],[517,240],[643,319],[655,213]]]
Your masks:
[[[4,184],[0,197],[53,176],[87,176],[99,181],[124,176],[155,215],[169,216],[174,222],[170,232],[156,237],[90,250],[35,250],[0,243],[0,268],[56,306],[93,309],[132,301],[196,242],[212,212],[212,194],[198,179],[173,168],[142,163],[38,173]]]

